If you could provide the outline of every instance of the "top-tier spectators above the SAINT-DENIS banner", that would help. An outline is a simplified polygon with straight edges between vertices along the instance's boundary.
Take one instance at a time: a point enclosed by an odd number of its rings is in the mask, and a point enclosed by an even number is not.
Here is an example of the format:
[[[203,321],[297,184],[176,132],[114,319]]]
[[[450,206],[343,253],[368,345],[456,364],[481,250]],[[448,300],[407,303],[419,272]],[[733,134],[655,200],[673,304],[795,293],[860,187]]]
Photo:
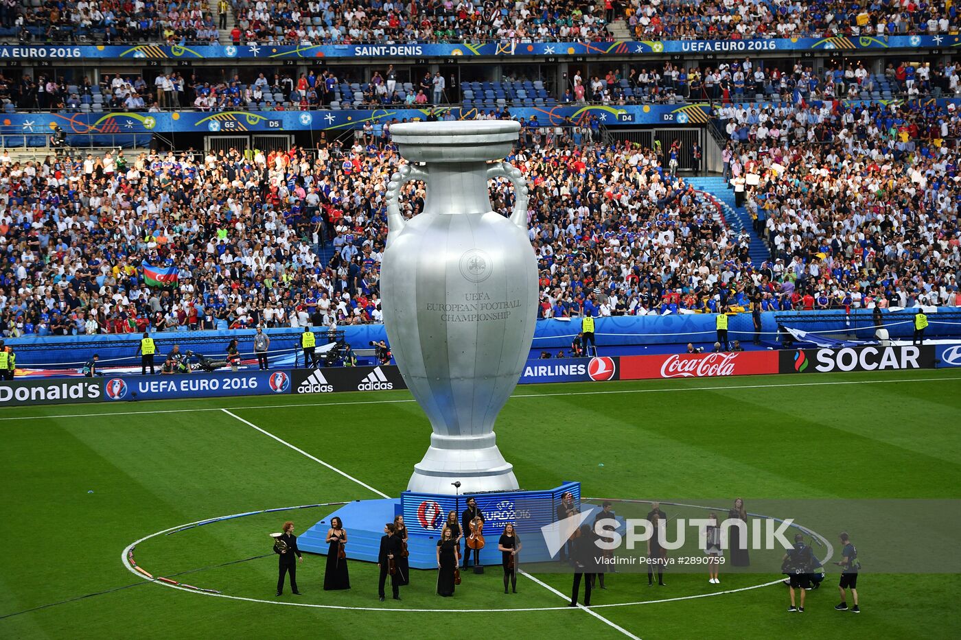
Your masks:
[[[157,4],[6,0],[0,24],[21,41],[168,42],[313,45],[350,42],[609,40],[606,25],[625,19],[633,37],[885,37],[948,34],[953,3],[918,0],[831,2],[772,0],[224,0],[217,12],[201,0]]]

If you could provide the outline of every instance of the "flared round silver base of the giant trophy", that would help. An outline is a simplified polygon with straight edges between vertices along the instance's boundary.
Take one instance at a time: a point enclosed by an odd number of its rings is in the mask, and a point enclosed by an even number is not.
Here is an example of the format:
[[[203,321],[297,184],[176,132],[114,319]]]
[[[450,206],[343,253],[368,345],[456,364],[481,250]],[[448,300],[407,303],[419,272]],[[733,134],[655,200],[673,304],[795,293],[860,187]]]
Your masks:
[[[493,433],[479,437],[431,435],[431,447],[424,459],[414,465],[407,491],[451,496],[516,491],[520,485],[514,467],[493,442]],[[454,482],[460,482],[460,487],[456,488]]]

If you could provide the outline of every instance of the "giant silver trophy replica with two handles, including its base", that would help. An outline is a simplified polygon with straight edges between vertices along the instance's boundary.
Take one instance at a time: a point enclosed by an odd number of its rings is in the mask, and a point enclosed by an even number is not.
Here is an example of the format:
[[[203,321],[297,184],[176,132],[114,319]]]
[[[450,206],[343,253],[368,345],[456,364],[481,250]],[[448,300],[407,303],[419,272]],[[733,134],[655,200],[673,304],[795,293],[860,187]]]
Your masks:
[[[431,447],[407,489],[454,493],[517,489],[494,421],[530,352],[537,260],[528,238],[528,189],[510,153],[513,121],[416,122],[390,134],[411,163],[387,185],[381,291],[390,347],[431,420]],[[491,210],[487,181],[514,185],[510,218]],[[423,181],[423,212],[405,221],[401,186]]]

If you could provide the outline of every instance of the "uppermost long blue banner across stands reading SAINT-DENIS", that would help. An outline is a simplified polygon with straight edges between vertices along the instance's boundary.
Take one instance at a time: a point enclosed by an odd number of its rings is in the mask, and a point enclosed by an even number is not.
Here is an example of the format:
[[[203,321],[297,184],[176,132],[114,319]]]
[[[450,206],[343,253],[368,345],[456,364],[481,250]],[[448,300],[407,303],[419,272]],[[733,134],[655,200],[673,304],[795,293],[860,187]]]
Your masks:
[[[29,28],[28,28],[29,30]],[[891,37],[771,37],[724,40],[616,40],[579,42],[408,42],[402,44],[108,44],[108,45],[6,45],[0,46],[0,60],[283,60],[321,62],[327,58],[530,58],[563,59],[567,56],[609,57],[638,54],[757,54],[776,51],[864,49],[942,49],[961,43],[958,36]]]

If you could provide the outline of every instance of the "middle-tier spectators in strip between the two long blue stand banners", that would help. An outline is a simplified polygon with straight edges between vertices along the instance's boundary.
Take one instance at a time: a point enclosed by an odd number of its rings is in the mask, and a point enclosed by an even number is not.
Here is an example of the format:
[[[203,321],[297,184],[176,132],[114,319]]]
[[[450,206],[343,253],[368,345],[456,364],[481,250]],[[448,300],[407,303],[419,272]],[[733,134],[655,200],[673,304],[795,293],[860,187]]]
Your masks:
[[[238,75],[211,78],[202,71],[186,76],[177,71],[160,72],[153,78],[104,74],[98,83],[85,77],[76,85],[45,74],[38,75],[36,83],[30,76],[13,82],[0,74],[0,102],[19,109],[64,112],[86,111],[91,106],[98,111],[307,111],[332,104],[345,109],[420,108],[430,103],[459,103],[465,97],[480,99],[473,92],[461,95],[458,88],[440,84],[440,80],[439,74],[428,73],[415,83],[402,83],[392,67],[376,69],[366,79],[338,77],[332,69],[319,73],[311,69],[300,75],[259,73],[250,82]],[[889,63],[878,74],[870,73],[860,62],[828,66],[822,74],[801,62],[788,68],[750,58],[713,67],[664,62],[657,67],[631,67],[625,76],[611,69],[603,76],[587,77],[575,69],[569,85],[557,93],[562,104],[608,105],[952,97],[961,96],[961,62]],[[513,94],[505,95],[509,105]]]

